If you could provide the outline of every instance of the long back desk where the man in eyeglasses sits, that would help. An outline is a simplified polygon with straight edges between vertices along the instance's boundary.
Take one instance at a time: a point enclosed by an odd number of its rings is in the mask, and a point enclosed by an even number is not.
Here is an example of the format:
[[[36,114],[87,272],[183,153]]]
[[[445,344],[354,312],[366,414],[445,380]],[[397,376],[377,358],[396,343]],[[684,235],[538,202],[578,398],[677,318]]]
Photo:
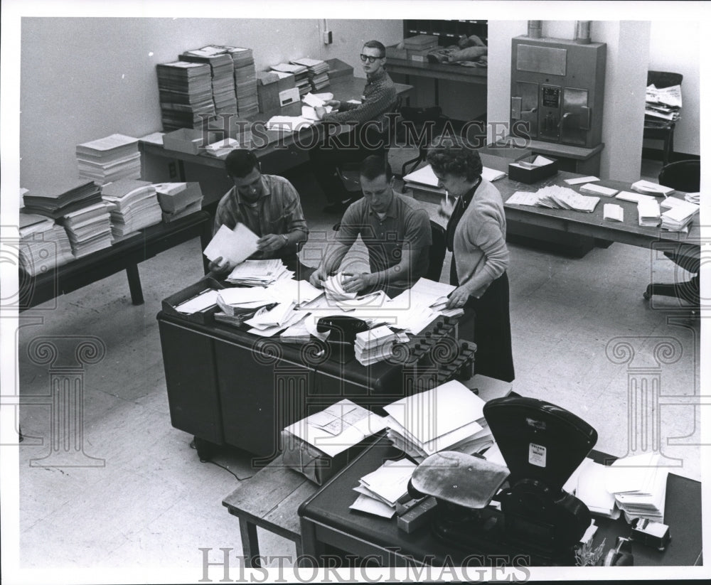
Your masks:
[[[363,87],[365,87],[365,79],[344,75],[333,80],[330,86],[324,87],[324,91],[332,92],[334,97],[342,101],[360,100],[363,97]],[[396,83],[395,90],[398,96],[405,97],[412,90],[412,85]],[[264,112],[255,114],[248,119],[250,122],[257,124],[259,128],[254,132],[252,148],[260,159],[262,172],[279,174],[308,161],[309,147],[316,144],[317,137],[322,136],[323,130],[321,124],[302,129],[296,133],[264,129],[264,124],[267,120],[275,115],[281,115],[281,112]],[[343,129],[346,129],[346,127],[343,127]],[[316,133],[316,136],[314,133]],[[222,171],[225,168],[223,159],[216,159],[214,156],[207,154],[187,154],[167,150],[162,144],[146,141],[141,141],[139,145],[144,156],[158,156],[163,159],[178,161],[178,181],[187,180],[185,163],[219,168]],[[208,203],[210,201],[205,200],[203,205]]]

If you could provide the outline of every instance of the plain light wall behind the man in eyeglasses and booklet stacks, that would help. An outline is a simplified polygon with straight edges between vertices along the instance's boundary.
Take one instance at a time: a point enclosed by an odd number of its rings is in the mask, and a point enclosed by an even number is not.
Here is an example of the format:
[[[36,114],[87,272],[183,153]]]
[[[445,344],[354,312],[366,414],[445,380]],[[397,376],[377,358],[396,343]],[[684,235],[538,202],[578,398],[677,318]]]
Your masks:
[[[75,147],[161,127],[156,65],[208,44],[252,48],[257,71],[299,57],[339,58],[363,76],[358,53],[372,38],[402,38],[402,20],[22,18],[21,186],[78,177]]]

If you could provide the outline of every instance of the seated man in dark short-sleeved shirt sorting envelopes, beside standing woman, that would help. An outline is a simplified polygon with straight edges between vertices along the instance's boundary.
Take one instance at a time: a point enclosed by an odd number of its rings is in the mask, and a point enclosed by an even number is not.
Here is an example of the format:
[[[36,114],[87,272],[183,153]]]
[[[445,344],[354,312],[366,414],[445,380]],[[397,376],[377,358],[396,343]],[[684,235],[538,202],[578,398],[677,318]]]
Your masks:
[[[390,165],[382,156],[371,155],[360,163],[363,199],[343,214],[336,245],[328,247],[311,274],[311,284],[321,288],[328,275],[338,271],[358,235],[368,248],[370,273],[348,274],[342,280],[347,293],[383,289],[392,297],[427,274],[432,245],[429,215],[415,207],[411,198],[395,193],[393,181]]]

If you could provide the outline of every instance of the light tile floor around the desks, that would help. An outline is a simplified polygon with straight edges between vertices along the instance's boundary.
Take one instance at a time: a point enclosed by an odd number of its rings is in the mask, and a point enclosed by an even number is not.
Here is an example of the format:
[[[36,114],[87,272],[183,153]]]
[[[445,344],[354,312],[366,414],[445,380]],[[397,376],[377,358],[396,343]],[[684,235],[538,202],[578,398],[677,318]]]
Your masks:
[[[643,174],[656,176],[654,164],[646,163]],[[308,173],[290,178],[311,229],[330,232],[336,218],[321,213]],[[434,215],[434,205],[423,206]],[[308,252],[307,246],[304,257]],[[582,259],[520,245],[510,245],[510,252],[515,390],[572,410],[597,429],[598,449],[621,456],[638,438],[634,427],[627,430],[628,383],[658,377],[667,397],[654,412],[661,451],[675,473],[700,478],[698,409],[673,399],[700,392],[700,321],[674,301],[655,299],[650,306],[642,299],[651,275],[670,279],[673,265],[620,244]],[[249,481],[245,458],[230,463],[232,473],[201,463],[189,446],[192,437],[171,427],[156,324],[161,299],[201,277],[201,268],[195,240],[140,265],[142,306],[132,306],[126,278],[116,274],[23,313],[22,567],[154,569],[161,571],[151,574],[157,580],[177,574],[185,582],[203,576],[201,547],[240,554],[237,519],[222,500],[239,485],[237,477]],[[448,273],[445,266],[442,274]],[[41,336],[90,336],[105,346],[100,363],[87,365],[83,375],[77,424],[84,429],[85,466],[53,468],[43,460],[50,451],[50,407],[43,398],[50,372],[28,357]],[[612,352],[614,340],[626,345]],[[675,348],[673,359],[664,357],[664,347]],[[265,554],[294,552],[292,543],[261,530],[260,542]]]

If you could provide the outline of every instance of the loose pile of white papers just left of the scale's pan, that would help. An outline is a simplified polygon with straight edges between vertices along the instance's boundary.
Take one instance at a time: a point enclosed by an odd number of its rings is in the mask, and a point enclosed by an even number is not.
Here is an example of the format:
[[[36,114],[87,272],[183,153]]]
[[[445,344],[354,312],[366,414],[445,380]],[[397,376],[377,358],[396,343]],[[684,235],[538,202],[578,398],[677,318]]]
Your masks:
[[[351,510],[368,512],[385,518],[395,515],[395,502],[407,493],[407,482],[417,466],[412,461],[385,461],[375,471],[360,478],[353,488],[360,495]]]

